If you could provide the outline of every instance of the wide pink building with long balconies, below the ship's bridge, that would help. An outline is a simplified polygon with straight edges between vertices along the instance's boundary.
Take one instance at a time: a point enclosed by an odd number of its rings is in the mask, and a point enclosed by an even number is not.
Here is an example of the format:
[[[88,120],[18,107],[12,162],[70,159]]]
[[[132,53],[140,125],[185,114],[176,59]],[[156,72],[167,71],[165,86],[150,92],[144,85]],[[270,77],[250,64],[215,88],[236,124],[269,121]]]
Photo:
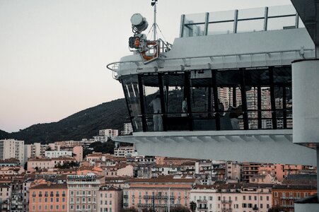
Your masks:
[[[158,177],[151,179],[130,179],[123,187],[124,208],[139,210],[156,208],[166,211],[170,207],[190,206],[190,190],[196,179]]]

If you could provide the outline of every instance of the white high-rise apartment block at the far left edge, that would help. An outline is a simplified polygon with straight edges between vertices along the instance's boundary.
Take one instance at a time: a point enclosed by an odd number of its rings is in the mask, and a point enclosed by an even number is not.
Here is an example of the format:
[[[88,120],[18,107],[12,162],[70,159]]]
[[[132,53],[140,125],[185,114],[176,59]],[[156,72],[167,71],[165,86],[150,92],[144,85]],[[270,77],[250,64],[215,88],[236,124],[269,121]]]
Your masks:
[[[21,165],[24,163],[24,141],[15,139],[0,140],[0,160],[16,158]]]

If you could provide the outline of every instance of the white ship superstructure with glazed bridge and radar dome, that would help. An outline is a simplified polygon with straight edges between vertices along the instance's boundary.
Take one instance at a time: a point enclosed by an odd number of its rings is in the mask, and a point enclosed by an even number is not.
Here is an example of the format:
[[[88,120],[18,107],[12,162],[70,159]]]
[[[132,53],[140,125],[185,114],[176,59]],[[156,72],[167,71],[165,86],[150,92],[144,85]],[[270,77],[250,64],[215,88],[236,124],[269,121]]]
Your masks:
[[[182,15],[173,45],[146,40],[134,14],[133,54],[108,65],[134,129],[115,140],[142,155],[316,165],[319,3],[292,2]]]

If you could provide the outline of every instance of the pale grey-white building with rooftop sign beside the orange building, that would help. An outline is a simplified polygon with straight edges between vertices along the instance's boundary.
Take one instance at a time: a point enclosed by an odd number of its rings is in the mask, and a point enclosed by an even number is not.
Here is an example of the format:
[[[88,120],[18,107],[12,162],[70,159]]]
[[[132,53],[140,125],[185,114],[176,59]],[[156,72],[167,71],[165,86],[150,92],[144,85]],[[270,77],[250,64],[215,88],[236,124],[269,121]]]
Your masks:
[[[69,189],[70,212],[98,210],[100,180],[96,175],[68,175],[66,183]]]

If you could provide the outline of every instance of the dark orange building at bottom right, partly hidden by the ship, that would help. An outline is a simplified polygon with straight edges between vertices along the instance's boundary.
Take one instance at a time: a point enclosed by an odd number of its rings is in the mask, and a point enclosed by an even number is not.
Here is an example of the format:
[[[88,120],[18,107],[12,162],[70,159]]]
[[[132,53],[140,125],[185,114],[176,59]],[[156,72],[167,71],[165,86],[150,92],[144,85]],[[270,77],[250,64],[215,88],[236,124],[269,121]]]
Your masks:
[[[285,211],[294,211],[294,201],[317,193],[314,185],[275,184],[272,187],[272,206],[281,206]]]

